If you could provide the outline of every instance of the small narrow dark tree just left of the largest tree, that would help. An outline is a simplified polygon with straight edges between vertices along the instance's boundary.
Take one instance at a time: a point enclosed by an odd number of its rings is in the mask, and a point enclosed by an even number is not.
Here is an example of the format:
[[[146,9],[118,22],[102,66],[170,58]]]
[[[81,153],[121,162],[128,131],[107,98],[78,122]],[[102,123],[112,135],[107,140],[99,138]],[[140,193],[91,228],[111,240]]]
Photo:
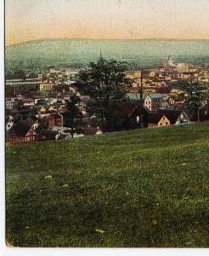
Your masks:
[[[71,94],[71,99],[67,103],[67,111],[64,114],[65,125],[71,128],[71,137],[74,135],[74,128],[79,124],[82,125],[82,113],[78,107],[80,102],[76,94]]]

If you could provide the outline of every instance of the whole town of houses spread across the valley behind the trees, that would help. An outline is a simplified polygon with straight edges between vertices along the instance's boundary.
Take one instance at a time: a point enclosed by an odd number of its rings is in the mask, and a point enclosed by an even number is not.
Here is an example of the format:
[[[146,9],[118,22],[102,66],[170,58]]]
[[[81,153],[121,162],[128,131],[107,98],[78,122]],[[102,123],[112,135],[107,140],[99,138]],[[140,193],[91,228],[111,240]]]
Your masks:
[[[94,115],[88,113],[89,96],[81,94],[76,87],[78,69],[48,70],[36,79],[6,80],[6,141],[26,143],[31,141],[67,140],[102,134]],[[187,75],[188,74],[188,75]],[[200,75],[201,74],[201,75]],[[188,83],[209,78],[209,71],[199,67],[175,64],[169,57],[167,65],[146,71],[127,72],[133,81],[127,101],[116,103],[110,115],[110,130],[121,131],[141,127],[161,127],[193,122],[185,105],[184,87],[176,82],[186,79]],[[204,78],[204,79],[203,79]],[[161,81],[161,83],[160,83]],[[143,84],[140,84],[140,83]],[[178,83],[177,83],[178,84]],[[139,89],[143,87],[143,109],[139,103]],[[80,98],[78,108],[82,113],[82,125],[71,131],[65,125],[67,103],[71,95]],[[143,113],[143,114],[142,114]],[[201,110],[201,120],[209,119],[209,107]]]

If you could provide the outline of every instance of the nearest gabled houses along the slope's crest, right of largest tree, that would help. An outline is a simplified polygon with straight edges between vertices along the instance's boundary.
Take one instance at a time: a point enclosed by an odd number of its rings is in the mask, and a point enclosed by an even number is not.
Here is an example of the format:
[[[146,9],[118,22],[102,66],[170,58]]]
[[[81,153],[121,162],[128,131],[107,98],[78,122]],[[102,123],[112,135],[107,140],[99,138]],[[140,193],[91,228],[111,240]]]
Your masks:
[[[183,125],[191,122],[184,110],[159,108],[160,102],[156,95],[145,96],[144,102],[149,102],[152,110],[146,108],[145,104],[141,110],[140,104],[137,102],[117,103],[111,122],[114,124],[113,131],[140,128],[142,118],[144,128]]]

